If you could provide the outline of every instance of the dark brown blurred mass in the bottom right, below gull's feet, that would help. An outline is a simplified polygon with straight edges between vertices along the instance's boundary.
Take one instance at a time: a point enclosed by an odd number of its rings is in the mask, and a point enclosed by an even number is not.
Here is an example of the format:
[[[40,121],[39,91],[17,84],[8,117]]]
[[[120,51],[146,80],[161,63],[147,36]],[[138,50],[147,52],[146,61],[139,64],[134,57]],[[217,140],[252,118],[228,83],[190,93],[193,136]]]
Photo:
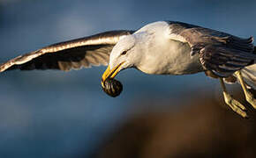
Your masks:
[[[256,157],[255,110],[247,106],[250,118],[245,119],[213,97],[192,98],[178,111],[132,118],[93,157]]]

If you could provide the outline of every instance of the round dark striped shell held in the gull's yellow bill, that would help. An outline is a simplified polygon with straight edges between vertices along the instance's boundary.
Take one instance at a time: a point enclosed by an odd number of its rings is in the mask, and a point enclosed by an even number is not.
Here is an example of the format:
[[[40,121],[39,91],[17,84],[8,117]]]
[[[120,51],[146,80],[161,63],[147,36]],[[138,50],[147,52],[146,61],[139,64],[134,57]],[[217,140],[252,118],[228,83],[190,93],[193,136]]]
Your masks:
[[[123,85],[113,78],[107,78],[103,83],[102,90],[111,97],[117,97],[123,90]]]

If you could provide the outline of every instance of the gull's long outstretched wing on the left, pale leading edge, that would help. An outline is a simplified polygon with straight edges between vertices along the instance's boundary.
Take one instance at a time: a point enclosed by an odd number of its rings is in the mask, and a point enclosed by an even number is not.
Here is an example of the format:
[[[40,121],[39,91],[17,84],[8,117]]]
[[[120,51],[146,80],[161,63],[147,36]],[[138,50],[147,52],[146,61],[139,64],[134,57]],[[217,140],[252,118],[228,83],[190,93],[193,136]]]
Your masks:
[[[60,69],[107,65],[109,54],[117,41],[133,31],[102,32],[43,47],[0,64],[0,72],[11,69]]]

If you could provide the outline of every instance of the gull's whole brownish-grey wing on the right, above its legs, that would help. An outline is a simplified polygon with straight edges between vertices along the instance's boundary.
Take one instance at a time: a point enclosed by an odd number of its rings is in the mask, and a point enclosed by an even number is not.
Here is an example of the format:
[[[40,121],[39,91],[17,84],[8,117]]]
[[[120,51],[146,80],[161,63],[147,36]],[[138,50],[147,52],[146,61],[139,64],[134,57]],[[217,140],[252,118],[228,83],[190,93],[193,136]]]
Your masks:
[[[230,76],[256,60],[252,37],[241,39],[225,32],[180,22],[169,22],[169,28],[172,39],[187,42],[191,55],[199,54],[203,68],[217,76]]]

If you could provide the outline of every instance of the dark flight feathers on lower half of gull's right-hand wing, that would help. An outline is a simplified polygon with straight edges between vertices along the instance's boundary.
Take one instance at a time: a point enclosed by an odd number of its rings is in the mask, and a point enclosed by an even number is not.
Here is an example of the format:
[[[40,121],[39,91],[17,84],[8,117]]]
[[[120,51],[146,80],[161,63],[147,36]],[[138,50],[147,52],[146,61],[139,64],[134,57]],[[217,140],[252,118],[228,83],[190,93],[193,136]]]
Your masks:
[[[215,75],[227,77],[253,64],[256,54],[226,46],[208,45],[200,49],[200,62]]]

